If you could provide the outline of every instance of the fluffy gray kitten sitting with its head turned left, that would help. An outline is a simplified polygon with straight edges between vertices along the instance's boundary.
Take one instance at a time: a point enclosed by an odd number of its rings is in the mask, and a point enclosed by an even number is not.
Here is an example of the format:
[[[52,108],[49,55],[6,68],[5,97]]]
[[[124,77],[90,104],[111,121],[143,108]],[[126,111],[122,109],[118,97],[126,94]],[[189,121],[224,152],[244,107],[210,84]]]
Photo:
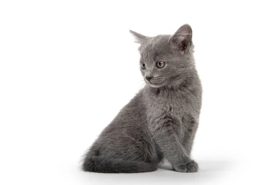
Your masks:
[[[190,153],[198,128],[202,87],[195,68],[192,29],[146,37],[140,43],[140,70],[146,85],[102,131],[82,159],[84,171],[155,171],[166,158],[175,171],[196,172]]]

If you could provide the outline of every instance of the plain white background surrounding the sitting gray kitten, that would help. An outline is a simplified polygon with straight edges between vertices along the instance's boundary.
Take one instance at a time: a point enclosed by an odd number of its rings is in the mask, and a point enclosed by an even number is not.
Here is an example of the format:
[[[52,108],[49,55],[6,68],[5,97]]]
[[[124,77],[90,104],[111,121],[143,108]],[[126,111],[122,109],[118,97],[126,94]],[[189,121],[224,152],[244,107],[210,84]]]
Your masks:
[[[0,184],[255,182],[253,1],[0,1]],[[193,29],[204,95],[198,173],[79,171],[79,159],[141,88],[138,44]],[[254,182],[253,182],[254,181]]]

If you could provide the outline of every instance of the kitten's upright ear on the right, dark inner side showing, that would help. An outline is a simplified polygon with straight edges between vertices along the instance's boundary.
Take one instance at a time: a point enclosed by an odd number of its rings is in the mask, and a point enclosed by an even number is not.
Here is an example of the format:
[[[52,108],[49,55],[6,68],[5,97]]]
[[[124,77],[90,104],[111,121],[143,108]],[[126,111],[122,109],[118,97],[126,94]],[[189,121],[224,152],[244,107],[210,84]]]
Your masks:
[[[171,37],[170,42],[185,53],[192,46],[192,28],[188,24],[181,26]]]

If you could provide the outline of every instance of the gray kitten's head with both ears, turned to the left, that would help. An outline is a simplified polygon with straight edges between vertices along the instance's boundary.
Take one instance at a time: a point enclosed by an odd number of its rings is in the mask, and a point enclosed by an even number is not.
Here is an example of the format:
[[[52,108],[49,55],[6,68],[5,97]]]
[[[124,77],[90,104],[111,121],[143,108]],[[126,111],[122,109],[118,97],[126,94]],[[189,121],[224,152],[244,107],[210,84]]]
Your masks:
[[[194,68],[192,29],[181,26],[173,35],[147,37],[130,32],[140,43],[140,70],[152,87],[178,85]]]

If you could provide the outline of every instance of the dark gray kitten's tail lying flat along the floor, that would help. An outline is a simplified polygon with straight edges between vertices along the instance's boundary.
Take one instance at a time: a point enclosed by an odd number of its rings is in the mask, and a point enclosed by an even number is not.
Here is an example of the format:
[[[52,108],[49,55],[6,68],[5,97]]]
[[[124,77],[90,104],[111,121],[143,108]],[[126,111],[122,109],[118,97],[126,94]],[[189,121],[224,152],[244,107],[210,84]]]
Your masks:
[[[143,161],[105,159],[103,157],[84,158],[81,170],[98,173],[142,173],[157,170],[157,164]]]

